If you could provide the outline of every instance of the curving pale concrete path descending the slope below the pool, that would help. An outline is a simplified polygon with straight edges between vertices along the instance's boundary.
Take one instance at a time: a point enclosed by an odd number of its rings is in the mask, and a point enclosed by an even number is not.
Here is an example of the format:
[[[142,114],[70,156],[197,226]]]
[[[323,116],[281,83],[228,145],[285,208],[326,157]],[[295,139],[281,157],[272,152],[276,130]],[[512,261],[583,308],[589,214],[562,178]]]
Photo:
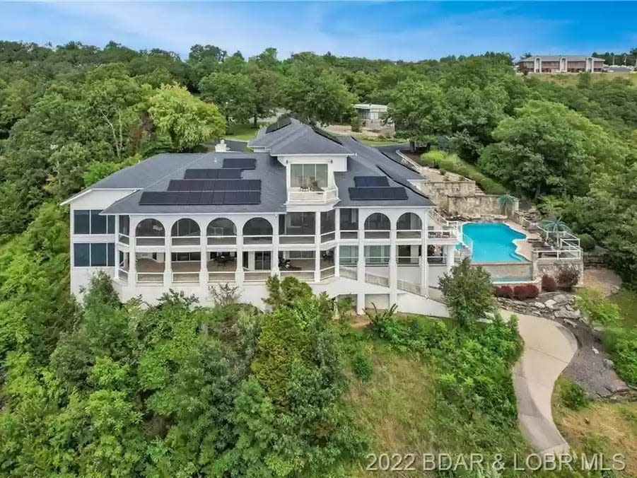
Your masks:
[[[502,316],[511,313],[501,310]],[[540,453],[566,453],[568,443],[553,422],[551,395],[555,380],[578,349],[577,340],[561,324],[516,314],[524,351],[513,367],[520,431]]]

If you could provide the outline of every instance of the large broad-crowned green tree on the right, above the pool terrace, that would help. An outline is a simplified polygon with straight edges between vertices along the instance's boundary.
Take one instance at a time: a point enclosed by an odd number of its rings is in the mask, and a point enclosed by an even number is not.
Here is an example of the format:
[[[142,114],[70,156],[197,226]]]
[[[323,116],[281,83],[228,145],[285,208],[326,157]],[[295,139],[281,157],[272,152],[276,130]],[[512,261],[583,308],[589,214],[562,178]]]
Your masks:
[[[559,103],[530,100],[516,117],[493,131],[498,141],[484,148],[485,173],[537,198],[588,190],[595,170],[621,162],[622,148],[604,130]]]

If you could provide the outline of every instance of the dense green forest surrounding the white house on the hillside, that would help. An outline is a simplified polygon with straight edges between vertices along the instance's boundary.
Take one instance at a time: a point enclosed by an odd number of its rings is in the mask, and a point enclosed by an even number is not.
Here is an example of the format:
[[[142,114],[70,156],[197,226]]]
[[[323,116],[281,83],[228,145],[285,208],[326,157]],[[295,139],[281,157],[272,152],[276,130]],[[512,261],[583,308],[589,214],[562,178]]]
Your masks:
[[[327,124],[349,122],[354,102],[387,103],[399,139],[455,154],[592,235],[637,285],[629,78],[580,74],[562,85],[516,75],[500,53],[422,62],[276,53],[245,59],[195,45],[182,59],[115,42],[0,42],[0,474],[350,475],[368,441],[344,405],[347,375],[368,377],[371,346],[330,325],[345,305],[293,281],[270,284],[269,312],[228,291],[211,309],[174,294],[153,308],[122,305],[104,278],[83,304],[69,294],[59,202],[153,153],[201,151],[278,108]],[[431,446],[522,450],[515,325],[460,334],[373,323],[375,338],[427,356],[438,373],[445,408],[432,412],[446,421],[428,431]]]

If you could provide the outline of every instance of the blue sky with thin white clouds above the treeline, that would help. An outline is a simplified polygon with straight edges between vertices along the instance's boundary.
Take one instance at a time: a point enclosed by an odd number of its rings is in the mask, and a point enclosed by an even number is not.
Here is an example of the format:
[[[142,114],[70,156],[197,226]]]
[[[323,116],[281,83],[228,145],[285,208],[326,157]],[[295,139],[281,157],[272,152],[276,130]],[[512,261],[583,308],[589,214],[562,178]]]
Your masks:
[[[59,45],[115,40],[187,56],[218,45],[389,59],[487,50],[590,54],[637,47],[637,2],[47,2],[0,5],[0,39]]]

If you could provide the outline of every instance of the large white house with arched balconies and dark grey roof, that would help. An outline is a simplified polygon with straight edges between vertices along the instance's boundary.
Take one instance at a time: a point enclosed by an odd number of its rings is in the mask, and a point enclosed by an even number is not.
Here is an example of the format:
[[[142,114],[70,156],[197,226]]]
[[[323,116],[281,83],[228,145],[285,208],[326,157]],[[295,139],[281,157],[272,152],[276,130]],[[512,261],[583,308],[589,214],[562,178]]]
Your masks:
[[[249,146],[159,154],[67,199],[72,291],[103,269],[123,301],[172,288],[206,304],[229,283],[260,306],[279,274],[351,295],[359,312],[445,314],[438,279],[462,239],[411,184],[416,172],[294,119]]]

